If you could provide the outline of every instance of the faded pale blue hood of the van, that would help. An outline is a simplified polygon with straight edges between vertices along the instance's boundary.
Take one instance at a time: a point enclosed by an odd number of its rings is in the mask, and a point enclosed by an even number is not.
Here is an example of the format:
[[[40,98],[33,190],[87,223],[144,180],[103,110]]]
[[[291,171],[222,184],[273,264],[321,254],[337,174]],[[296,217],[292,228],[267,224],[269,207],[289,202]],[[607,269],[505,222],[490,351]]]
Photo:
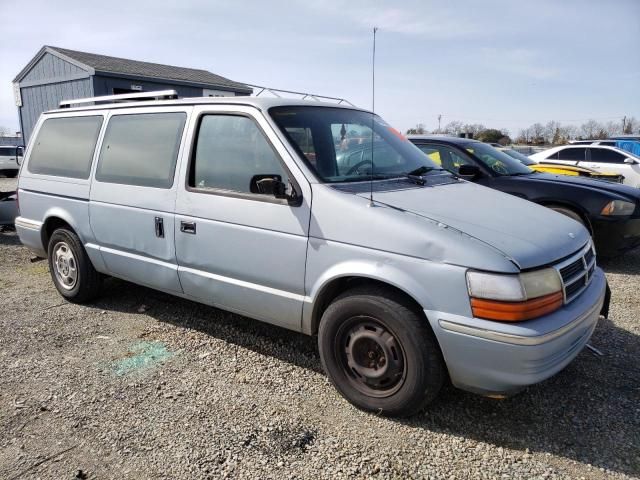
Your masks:
[[[498,249],[521,269],[554,263],[589,241],[589,232],[575,220],[469,182],[375,192],[373,198],[462,231]]]

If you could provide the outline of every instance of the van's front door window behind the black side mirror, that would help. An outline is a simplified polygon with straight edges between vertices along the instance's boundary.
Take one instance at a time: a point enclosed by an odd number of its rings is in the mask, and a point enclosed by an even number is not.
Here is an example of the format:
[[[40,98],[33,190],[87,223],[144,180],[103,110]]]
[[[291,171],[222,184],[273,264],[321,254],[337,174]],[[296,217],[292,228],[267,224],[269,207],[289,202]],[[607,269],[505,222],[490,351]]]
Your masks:
[[[278,154],[248,117],[205,115],[196,142],[190,187],[249,194],[254,175],[279,175],[287,181]]]

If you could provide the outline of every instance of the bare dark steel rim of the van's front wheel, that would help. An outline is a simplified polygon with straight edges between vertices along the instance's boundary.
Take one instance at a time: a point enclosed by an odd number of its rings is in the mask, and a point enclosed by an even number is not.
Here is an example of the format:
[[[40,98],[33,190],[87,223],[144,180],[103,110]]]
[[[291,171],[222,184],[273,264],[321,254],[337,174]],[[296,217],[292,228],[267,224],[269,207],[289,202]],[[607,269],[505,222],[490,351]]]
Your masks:
[[[352,385],[374,397],[395,393],[405,377],[402,348],[392,332],[370,317],[353,317],[338,334],[342,367]]]

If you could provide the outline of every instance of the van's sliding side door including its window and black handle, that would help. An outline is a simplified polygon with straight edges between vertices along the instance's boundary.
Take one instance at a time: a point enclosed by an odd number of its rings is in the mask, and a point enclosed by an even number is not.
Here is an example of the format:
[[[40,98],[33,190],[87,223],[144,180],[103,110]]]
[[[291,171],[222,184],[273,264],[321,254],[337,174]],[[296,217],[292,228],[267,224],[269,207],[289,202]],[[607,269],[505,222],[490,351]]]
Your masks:
[[[175,172],[191,108],[114,110],[89,204],[91,228],[110,274],[179,293]]]

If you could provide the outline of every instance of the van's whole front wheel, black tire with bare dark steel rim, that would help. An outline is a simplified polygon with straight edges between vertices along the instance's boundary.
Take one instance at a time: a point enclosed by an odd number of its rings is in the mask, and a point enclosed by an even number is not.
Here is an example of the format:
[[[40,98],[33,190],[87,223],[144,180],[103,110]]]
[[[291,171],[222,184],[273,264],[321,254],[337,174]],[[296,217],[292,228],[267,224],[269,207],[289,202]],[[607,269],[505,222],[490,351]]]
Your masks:
[[[322,315],[322,366],[356,407],[408,416],[436,398],[446,369],[431,328],[415,306],[384,289],[345,292]]]

